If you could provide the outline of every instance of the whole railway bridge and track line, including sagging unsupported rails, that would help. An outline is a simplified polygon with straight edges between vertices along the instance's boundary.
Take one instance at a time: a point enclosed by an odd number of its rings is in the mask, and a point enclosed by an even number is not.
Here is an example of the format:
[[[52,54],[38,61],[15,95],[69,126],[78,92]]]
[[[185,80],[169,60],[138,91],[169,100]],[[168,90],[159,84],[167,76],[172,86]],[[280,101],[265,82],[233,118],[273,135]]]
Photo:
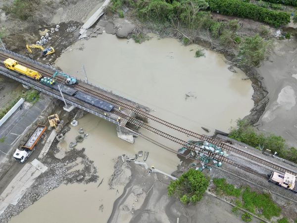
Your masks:
[[[136,135],[138,133],[127,127],[127,123],[129,123],[130,126],[134,125],[136,127],[148,130],[163,138],[166,138],[169,141],[173,141],[183,148],[188,149],[189,151],[191,151],[191,153],[193,152],[194,154],[197,154],[196,158],[191,158],[187,155],[179,154],[180,156],[184,156],[186,159],[189,159],[191,161],[193,160],[194,162],[199,162],[199,156],[207,156],[217,162],[224,162],[226,164],[241,168],[247,172],[264,178],[267,177],[265,172],[269,173],[271,170],[280,173],[287,172],[297,176],[296,167],[291,166],[289,168],[288,166],[281,165],[279,163],[276,164],[270,159],[263,158],[256,154],[250,154],[246,150],[234,147],[229,143],[219,141],[209,136],[200,135],[191,130],[169,123],[165,120],[151,115],[150,113],[148,113],[148,111],[146,111],[146,109],[148,108],[145,108],[142,105],[139,105],[123,97],[114,95],[111,92],[104,91],[99,87],[84,83],[84,81],[79,81],[78,84],[71,85],[70,87],[62,85],[60,89],[57,89],[57,87],[46,86],[25,75],[20,75],[17,72],[8,70],[3,64],[3,61],[7,58],[13,58],[17,60],[19,64],[40,72],[40,74],[42,74],[44,77],[51,77],[52,74],[56,71],[55,68],[39,63],[28,57],[18,55],[11,51],[0,48],[0,74],[19,81],[25,86],[35,88],[38,91],[48,94],[54,98],[63,100],[68,105],[65,106],[65,110],[69,111],[71,109],[69,108],[69,106],[71,105],[72,107],[77,107],[82,110],[88,111],[101,118],[104,118],[107,121],[114,123],[117,127],[118,137],[130,143],[134,142],[133,135]],[[57,82],[62,83],[63,81],[65,80],[62,78],[57,78]],[[62,91],[63,97],[61,96],[60,91]],[[121,121],[119,121],[119,117]],[[187,142],[181,138],[177,138],[165,132],[165,130],[160,130],[158,128],[152,127],[150,124],[144,121],[146,119],[148,121],[157,123],[158,126],[162,126],[163,128],[183,133],[183,135],[187,138],[191,137],[194,140]],[[177,154],[176,150],[172,150],[171,148],[168,148],[165,145],[160,144],[159,142],[152,140],[143,134],[138,135],[164,149],[169,150],[170,152]],[[208,143],[216,145],[223,150],[237,154],[237,156],[245,157],[245,159],[248,159],[250,161],[250,165],[245,162],[243,164],[236,159],[234,160],[228,157],[224,157],[220,155],[220,153],[215,153],[209,148],[207,149],[203,146],[199,146],[197,143],[195,143],[195,141],[207,141]],[[265,171],[259,172],[258,170],[256,170],[254,168],[254,165],[258,164],[261,164]]]

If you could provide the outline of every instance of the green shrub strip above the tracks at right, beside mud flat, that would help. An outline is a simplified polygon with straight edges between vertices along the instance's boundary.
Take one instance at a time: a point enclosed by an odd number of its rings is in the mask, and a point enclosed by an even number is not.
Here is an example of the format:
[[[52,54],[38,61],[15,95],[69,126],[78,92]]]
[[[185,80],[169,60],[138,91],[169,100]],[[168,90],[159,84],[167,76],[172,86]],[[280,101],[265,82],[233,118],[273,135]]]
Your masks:
[[[297,149],[286,144],[283,137],[274,134],[257,133],[247,120],[238,120],[229,137],[259,150],[269,149],[277,156],[297,164]]]

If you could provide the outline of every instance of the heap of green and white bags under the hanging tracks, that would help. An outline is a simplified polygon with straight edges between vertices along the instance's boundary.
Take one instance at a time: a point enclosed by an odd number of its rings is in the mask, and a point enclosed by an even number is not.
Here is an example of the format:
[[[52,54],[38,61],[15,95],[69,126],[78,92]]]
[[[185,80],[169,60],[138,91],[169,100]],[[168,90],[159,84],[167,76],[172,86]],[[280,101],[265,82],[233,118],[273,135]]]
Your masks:
[[[193,147],[193,145],[197,146],[195,150],[189,149],[189,147]],[[191,166],[197,166],[196,169],[202,171],[204,168],[211,170],[211,164],[216,167],[221,167],[222,162],[218,161],[217,159],[210,157],[207,155],[207,152],[210,151],[214,154],[228,157],[229,155],[226,151],[222,151],[221,147],[218,147],[212,143],[207,141],[188,141],[188,143],[178,150],[179,154],[182,154],[186,157],[190,157],[192,159],[196,159],[201,167],[198,167],[197,163],[192,163]]]

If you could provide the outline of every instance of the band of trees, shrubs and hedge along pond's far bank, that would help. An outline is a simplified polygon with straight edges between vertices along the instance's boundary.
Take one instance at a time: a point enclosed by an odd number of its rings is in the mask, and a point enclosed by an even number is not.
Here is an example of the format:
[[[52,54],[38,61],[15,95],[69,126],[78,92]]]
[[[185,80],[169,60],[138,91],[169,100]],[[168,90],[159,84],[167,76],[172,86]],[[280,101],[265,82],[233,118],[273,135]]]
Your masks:
[[[270,30],[260,26],[254,33],[239,32],[238,20],[214,20],[211,11],[262,21],[278,27],[290,22],[287,12],[270,10],[243,0],[111,0],[106,13],[121,13],[124,6],[132,9],[147,27],[159,33],[178,33],[185,45],[194,43],[198,36],[208,39],[225,49],[237,53],[236,59],[243,66],[258,66],[269,55],[272,47]],[[240,33],[240,34],[239,34]],[[258,34],[256,34],[258,33]],[[132,38],[141,43],[139,34]],[[203,38],[202,38],[203,39]]]

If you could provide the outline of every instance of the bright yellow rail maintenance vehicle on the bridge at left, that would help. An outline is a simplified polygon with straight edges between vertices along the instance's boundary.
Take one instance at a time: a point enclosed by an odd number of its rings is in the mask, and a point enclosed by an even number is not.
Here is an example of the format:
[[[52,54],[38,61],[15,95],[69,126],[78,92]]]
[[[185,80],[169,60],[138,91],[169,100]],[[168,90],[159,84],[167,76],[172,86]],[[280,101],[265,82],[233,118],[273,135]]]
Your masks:
[[[40,81],[40,79],[42,78],[42,75],[40,75],[36,70],[31,70],[28,67],[22,66],[18,64],[18,62],[14,59],[7,58],[3,61],[3,63],[8,69],[15,70],[37,81]]]

